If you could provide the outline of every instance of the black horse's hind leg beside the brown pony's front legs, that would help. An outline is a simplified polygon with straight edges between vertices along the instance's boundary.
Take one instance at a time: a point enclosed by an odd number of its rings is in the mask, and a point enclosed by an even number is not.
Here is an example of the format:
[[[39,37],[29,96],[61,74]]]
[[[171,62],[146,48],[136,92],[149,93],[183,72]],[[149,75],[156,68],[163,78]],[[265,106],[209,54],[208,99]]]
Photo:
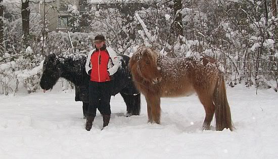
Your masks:
[[[126,117],[138,116],[141,111],[141,94],[125,94],[120,92],[126,104]]]

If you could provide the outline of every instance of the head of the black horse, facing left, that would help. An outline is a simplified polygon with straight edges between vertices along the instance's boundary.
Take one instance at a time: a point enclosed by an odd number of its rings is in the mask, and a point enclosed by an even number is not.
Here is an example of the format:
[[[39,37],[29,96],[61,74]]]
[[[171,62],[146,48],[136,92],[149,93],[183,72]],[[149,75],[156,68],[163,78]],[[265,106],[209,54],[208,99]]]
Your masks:
[[[40,79],[40,87],[43,90],[52,89],[60,77],[60,69],[58,68],[58,59],[55,54],[47,56],[43,62],[42,76]]]

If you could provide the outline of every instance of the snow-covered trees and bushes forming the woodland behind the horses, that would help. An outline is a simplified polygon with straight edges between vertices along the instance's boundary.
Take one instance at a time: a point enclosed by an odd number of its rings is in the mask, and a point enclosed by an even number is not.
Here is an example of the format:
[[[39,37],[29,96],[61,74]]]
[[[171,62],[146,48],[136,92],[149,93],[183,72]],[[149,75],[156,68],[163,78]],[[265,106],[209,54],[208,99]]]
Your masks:
[[[0,94],[35,92],[45,56],[86,54],[99,33],[118,55],[142,44],[168,57],[201,52],[223,64],[229,86],[277,91],[276,0],[76,1],[0,0]],[[51,31],[57,6],[67,27]]]

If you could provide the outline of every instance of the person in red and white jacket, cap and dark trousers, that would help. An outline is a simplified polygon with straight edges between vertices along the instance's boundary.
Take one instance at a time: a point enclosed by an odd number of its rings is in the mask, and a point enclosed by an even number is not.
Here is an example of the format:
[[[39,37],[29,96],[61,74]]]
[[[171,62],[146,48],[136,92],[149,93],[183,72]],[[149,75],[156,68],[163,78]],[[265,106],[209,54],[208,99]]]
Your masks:
[[[103,128],[109,124],[112,75],[117,72],[120,66],[116,52],[106,46],[103,35],[97,35],[94,44],[96,48],[89,52],[85,65],[86,72],[90,76],[87,131],[90,131],[92,127],[97,109],[103,116]]]

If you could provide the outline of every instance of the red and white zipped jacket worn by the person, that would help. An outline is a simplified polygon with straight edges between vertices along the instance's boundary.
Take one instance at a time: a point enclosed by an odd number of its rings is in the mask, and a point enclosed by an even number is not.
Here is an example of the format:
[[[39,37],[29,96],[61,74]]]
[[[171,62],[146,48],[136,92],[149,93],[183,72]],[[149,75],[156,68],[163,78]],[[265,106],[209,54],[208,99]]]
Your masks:
[[[116,52],[104,45],[89,52],[85,69],[91,81],[106,82],[111,80],[110,76],[117,72],[120,65]]]

